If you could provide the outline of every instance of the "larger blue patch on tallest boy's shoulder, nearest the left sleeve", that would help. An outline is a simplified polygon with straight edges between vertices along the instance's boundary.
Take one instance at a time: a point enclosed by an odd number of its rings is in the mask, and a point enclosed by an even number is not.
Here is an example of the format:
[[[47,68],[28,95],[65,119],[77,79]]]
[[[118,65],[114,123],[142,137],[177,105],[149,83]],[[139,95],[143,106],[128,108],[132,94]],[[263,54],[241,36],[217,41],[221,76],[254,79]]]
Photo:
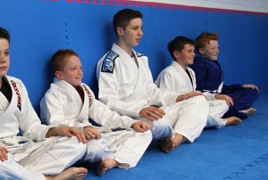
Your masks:
[[[114,61],[119,55],[115,53],[113,50],[111,50],[107,55],[105,56],[105,59],[102,64],[102,72],[108,72],[113,74],[113,68],[114,68]]]

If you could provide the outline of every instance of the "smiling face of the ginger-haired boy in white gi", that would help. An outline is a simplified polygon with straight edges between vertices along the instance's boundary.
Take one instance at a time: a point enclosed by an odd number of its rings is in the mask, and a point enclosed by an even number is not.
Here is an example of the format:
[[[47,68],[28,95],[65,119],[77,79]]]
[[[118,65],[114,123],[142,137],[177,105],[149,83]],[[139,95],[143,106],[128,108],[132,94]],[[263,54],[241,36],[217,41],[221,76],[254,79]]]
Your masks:
[[[75,55],[65,57],[63,70],[55,71],[56,78],[65,80],[71,86],[80,86],[83,78],[83,70],[80,58]]]

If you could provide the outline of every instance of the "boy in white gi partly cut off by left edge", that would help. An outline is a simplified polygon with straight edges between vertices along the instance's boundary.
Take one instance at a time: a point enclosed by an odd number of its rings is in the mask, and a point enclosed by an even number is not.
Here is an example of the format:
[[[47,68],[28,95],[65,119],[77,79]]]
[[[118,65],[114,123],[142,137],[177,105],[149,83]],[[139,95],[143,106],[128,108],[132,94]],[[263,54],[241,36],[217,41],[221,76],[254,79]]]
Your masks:
[[[6,75],[9,43],[0,28],[0,179],[83,179],[86,168],[69,167],[84,156],[85,136],[76,127],[41,124],[21,80]]]

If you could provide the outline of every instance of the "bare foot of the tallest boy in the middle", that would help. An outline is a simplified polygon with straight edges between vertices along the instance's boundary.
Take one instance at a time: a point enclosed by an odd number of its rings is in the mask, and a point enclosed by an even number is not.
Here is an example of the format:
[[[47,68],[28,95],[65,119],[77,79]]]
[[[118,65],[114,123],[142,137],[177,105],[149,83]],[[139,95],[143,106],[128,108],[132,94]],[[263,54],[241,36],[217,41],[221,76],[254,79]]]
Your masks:
[[[183,136],[175,133],[172,137],[167,137],[165,140],[159,142],[161,150],[168,153],[171,152],[175,147],[179,146]]]

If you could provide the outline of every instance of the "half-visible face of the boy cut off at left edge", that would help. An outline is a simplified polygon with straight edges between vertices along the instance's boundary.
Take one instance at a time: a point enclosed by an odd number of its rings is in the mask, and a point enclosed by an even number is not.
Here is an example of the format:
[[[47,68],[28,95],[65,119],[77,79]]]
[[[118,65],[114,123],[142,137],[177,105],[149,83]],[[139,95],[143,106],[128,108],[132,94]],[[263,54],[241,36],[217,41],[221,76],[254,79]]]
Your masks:
[[[9,69],[10,57],[9,57],[9,42],[0,38],[0,78],[4,77]]]

